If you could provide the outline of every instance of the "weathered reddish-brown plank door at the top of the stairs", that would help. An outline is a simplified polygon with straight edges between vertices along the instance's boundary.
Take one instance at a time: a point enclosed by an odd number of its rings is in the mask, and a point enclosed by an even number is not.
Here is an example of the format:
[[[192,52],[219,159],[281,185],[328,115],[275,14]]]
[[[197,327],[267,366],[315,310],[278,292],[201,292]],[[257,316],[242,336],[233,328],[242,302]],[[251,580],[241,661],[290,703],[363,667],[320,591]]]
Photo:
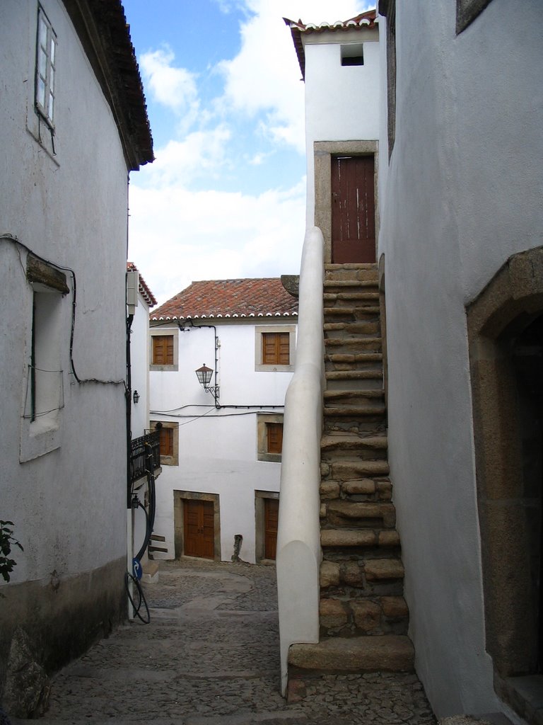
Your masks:
[[[373,156],[332,157],[332,262],[375,262]]]

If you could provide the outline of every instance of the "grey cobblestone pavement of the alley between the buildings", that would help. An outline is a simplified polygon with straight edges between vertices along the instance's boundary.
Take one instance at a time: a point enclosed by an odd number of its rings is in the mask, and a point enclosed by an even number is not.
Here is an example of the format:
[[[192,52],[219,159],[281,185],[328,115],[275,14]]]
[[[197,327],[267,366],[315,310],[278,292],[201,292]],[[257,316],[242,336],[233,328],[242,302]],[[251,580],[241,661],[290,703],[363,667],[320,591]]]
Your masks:
[[[120,627],[61,671],[43,725],[435,724],[414,675],[327,676],[288,705],[273,567],[164,561],[145,593],[151,623]]]

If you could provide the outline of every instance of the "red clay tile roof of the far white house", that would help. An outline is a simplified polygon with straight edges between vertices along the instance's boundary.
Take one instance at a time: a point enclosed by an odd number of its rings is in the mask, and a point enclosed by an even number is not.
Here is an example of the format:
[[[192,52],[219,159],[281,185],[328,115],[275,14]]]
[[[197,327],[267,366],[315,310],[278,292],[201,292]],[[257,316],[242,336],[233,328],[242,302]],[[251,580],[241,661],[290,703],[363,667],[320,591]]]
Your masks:
[[[153,310],[151,320],[282,315],[298,315],[298,299],[279,277],[219,279],[193,282]]]

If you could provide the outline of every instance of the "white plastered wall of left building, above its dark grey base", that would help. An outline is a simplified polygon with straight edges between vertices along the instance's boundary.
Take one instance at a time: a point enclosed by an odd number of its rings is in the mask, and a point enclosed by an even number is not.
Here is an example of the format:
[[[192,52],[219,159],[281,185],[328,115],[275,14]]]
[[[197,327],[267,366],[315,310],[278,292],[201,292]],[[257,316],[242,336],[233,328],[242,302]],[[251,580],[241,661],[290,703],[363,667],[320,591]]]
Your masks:
[[[58,37],[56,156],[33,137],[37,4],[0,4],[0,233],[75,270],[73,360],[80,378],[125,378],[127,167],[117,127],[64,6],[41,3]],[[25,547],[12,582],[62,581],[125,553],[126,433],[121,385],[70,373],[72,294],[62,299],[59,447],[20,463],[32,325],[26,251],[0,239],[3,427],[0,516]],[[70,273],[67,281],[72,286]],[[0,581],[0,586],[4,584]]]

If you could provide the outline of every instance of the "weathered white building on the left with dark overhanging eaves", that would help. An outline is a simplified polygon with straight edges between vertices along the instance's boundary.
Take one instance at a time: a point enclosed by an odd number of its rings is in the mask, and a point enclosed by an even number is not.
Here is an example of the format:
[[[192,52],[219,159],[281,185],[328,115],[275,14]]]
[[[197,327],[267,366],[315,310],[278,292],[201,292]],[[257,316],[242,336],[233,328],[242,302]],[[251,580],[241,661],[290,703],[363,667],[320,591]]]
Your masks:
[[[153,150],[119,0],[3,1],[0,57],[0,518],[24,547],[0,696],[26,717],[126,614],[127,175]]]

